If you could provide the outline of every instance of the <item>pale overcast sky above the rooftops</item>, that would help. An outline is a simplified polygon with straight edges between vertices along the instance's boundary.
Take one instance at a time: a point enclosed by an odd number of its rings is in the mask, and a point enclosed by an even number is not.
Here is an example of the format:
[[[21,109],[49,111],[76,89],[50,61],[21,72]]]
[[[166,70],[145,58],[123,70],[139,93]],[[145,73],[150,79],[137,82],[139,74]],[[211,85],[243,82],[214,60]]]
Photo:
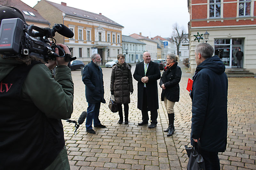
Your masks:
[[[37,0],[21,0],[34,7]],[[170,37],[172,25],[177,22],[184,26],[188,33],[188,4],[187,0],[50,0],[60,4],[67,3],[67,6],[102,13],[105,17],[112,19],[124,26],[123,35],[142,33],[149,38],[159,35]]]

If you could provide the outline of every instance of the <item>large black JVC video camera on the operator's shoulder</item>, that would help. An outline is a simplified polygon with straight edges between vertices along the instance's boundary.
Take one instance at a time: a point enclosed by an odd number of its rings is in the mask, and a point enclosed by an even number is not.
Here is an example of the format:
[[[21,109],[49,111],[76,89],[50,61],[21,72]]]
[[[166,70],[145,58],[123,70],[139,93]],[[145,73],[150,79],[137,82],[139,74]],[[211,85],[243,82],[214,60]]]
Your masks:
[[[45,62],[49,59],[55,60],[56,57],[65,57],[66,62],[75,60],[76,57],[66,55],[63,48],[55,44],[53,37],[56,32],[68,38],[74,36],[63,24],[55,24],[51,29],[25,25],[20,18],[3,19],[0,27],[0,54],[3,54],[4,58],[24,58],[30,55]],[[51,38],[52,42],[48,38]],[[59,49],[59,55],[55,53],[55,48]]]

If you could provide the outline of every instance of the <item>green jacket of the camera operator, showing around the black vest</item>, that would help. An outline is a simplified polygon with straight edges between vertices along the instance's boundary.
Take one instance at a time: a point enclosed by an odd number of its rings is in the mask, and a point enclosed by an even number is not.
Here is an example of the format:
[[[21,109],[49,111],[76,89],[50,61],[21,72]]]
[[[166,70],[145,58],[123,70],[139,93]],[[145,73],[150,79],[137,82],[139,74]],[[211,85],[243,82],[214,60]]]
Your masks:
[[[0,57],[0,82],[17,65],[15,59]],[[21,95],[32,101],[47,117],[69,119],[73,112],[74,83],[68,66],[56,68],[55,79],[46,65],[34,65],[22,86]]]

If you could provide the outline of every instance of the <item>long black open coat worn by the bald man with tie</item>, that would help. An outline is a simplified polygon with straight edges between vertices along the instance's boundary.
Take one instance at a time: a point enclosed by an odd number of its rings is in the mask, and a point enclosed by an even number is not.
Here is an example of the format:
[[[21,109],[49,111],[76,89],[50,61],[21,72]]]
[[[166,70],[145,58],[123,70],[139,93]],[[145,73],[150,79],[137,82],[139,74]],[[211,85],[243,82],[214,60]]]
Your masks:
[[[157,110],[159,108],[159,105],[158,105],[158,90],[157,90],[156,80],[158,80],[161,77],[158,63],[151,61],[148,64],[148,70],[147,70],[146,76],[148,77],[148,83],[146,83],[148,111]],[[142,110],[143,88],[144,88],[144,83],[141,82],[142,77],[145,77],[144,61],[136,64],[136,68],[133,73],[133,78],[138,81],[138,109],[140,110]]]

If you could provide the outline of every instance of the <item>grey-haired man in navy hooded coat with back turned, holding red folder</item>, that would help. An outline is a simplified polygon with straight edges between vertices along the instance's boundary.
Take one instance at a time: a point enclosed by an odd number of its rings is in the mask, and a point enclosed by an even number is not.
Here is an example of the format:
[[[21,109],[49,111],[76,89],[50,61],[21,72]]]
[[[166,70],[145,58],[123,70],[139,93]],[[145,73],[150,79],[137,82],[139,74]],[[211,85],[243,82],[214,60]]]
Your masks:
[[[205,169],[220,169],[218,152],[225,152],[228,130],[228,78],[225,65],[210,44],[196,46],[192,99],[191,145],[198,140]]]

